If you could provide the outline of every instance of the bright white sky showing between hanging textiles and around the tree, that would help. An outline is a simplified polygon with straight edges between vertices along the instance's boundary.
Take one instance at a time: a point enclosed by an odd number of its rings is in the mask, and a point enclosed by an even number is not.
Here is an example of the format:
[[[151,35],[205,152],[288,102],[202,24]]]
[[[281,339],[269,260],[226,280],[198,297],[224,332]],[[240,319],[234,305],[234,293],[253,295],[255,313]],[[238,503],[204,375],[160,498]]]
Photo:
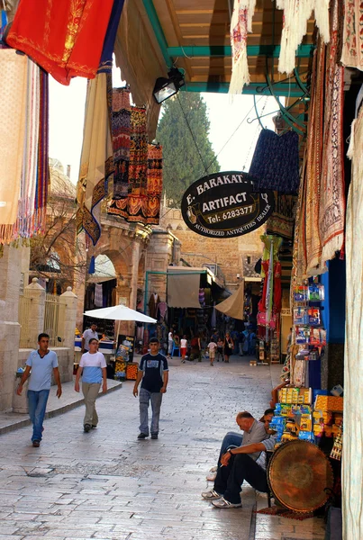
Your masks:
[[[123,82],[118,68],[113,69],[113,86]],[[211,122],[210,140],[222,171],[245,170],[259,136],[259,121],[252,95],[202,94]],[[77,184],[82,151],[83,122],[86,103],[86,79],[74,78],[69,86],[60,85],[50,76],[50,157],[59,159],[70,179]],[[277,111],[273,97],[257,97],[259,114]],[[269,114],[262,119],[264,127],[273,127]],[[196,178],[195,178],[196,180]]]

